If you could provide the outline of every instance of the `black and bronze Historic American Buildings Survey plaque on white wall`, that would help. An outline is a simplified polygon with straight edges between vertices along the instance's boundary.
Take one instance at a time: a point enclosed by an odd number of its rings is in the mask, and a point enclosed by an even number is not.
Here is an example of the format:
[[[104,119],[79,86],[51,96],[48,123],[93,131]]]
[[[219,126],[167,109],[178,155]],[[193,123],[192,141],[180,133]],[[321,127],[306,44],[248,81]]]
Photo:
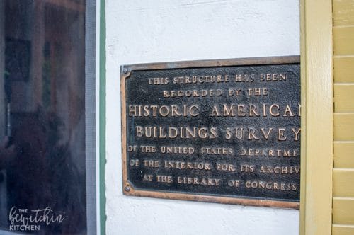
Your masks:
[[[299,207],[299,57],[120,69],[125,195]]]

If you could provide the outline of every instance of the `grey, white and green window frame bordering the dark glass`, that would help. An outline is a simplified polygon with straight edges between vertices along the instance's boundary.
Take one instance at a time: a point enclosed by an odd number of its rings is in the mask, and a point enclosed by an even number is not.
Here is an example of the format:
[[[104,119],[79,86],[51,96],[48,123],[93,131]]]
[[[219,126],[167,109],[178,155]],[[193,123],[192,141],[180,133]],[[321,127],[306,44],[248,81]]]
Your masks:
[[[85,8],[86,229],[105,234],[105,1],[86,0]]]

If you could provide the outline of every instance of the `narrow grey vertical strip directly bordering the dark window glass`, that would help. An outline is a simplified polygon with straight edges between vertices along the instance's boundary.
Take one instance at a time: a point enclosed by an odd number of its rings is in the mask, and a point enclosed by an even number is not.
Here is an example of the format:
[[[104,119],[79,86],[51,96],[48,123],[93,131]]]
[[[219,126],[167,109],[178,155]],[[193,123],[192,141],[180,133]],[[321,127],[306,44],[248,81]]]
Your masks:
[[[96,0],[86,0],[85,11],[85,146],[86,146],[86,227],[97,234],[97,122],[96,113]]]

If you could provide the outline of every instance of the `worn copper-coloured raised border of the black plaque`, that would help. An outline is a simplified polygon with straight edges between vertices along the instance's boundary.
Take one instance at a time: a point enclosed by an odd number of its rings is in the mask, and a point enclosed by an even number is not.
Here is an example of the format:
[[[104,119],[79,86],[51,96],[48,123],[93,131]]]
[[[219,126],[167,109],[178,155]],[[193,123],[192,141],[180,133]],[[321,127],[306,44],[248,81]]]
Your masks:
[[[183,68],[202,68],[202,67],[228,67],[243,65],[261,65],[261,64],[300,64],[300,56],[280,56],[280,57],[250,57],[237,59],[208,59],[194,61],[178,62],[158,62],[147,64],[127,64],[120,66],[120,103],[122,118],[122,191],[123,195],[138,197],[154,197],[173,200],[190,200],[198,202],[217,202],[222,204],[251,205],[262,207],[282,207],[290,209],[299,209],[300,202],[287,200],[265,200],[249,197],[230,197],[227,195],[204,195],[191,193],[176,193],[161,190],[140,190],[132,187],[127,178],[127,99],[125,92],[125,81],[130,77],[132,71],[159,70],[159,69],[183,69]],[[300,81],[301,83],[301,78]],[[301,94],[300,94],[301,96]],[[300,176],[301,182],[301,176]]]

